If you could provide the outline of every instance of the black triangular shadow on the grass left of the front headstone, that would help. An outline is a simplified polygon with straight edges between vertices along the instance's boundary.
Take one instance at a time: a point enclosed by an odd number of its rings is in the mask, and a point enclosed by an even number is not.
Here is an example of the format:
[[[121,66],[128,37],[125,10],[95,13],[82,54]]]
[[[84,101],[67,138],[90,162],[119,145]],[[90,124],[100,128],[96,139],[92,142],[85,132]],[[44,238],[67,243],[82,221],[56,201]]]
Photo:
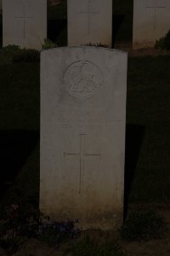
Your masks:
[[[0,131],[0,141],[0,200],[2,200],[10,184],[14,183],[20,169],[27,164],[28,156],[39,141],[39,132],[24,130]],[[28,183],[28,179],[24,178]]]

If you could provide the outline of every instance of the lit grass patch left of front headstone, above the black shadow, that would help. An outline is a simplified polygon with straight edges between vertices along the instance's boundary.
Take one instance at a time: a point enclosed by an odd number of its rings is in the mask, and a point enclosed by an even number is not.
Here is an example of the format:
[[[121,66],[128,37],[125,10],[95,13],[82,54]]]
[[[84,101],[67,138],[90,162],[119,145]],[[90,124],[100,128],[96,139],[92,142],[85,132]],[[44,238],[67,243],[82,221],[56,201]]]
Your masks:
[[[39,63],[0,65],[0,129],[38,130]]]

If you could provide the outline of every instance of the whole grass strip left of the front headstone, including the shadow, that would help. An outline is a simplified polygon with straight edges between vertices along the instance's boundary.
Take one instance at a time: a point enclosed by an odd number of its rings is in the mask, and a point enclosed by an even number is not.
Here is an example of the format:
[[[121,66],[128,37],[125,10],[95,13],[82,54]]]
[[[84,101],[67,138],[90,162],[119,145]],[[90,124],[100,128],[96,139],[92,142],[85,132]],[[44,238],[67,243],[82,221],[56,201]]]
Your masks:
[[[0,50],[1,207],[20,201],[36,204],[39,197],[38,149],[31,161],[29,157],[39,142],[40,67],[38,62],[13,63],[18,51]]]

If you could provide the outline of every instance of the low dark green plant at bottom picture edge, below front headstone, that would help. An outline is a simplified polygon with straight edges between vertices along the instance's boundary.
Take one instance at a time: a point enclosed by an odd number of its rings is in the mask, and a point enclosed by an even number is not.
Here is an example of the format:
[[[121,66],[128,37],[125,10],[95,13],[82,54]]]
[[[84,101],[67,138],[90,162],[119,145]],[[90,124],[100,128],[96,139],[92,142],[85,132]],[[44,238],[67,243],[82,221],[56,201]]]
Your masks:
[[[95,241],[90,236],[85,236],[81,241],[72,244],[65,251],[74,256],[122,256],[122,251],[116,241]]]

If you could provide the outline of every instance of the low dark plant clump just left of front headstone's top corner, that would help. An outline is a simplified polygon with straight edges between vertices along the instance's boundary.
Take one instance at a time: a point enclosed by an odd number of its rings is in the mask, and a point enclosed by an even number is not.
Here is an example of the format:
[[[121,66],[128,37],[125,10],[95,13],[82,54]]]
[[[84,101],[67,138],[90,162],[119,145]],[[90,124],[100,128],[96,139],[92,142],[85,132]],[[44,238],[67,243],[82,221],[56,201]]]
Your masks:
[[[39,62],[40,53],[36,49],[20,49],[13,56],[13,62]]]

